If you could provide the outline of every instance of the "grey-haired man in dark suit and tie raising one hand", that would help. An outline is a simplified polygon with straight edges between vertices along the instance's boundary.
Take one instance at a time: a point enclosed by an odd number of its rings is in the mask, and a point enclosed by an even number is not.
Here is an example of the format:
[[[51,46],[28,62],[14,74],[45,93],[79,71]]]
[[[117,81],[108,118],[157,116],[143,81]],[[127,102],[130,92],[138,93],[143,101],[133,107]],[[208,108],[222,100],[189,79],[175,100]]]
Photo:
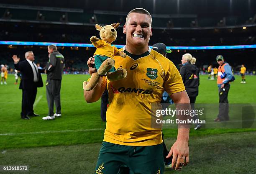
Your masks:
[[[37,87],[43,87],[41,73],[44,69],[38,69],[34,63],[35,56],[32,51],[25,53],[26,60],[20,61],[18,56],[13,55],[14,67],[21,72],[22,78],[19,89],[22,90],[22,107],[20,116],[29,120],[29,116],[39,116],[34,113],[33,104],[36,100]]]

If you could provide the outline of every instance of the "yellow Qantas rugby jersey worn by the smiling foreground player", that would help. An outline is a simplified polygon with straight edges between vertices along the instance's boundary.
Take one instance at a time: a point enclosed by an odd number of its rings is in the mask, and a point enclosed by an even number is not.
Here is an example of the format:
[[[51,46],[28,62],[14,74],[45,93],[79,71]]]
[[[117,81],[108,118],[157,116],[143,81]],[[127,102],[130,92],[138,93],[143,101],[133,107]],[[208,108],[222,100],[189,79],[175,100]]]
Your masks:
[[[164,90],[169,94],[184,91],[182,77],[172,61],[151,48],[138,59],[125,53],[125,59],[115,56],[114,60],[115,69],[126,69],[127,77],[107,82],[109,105],[103,141],[127,146],[160,144],[161,128],[151,128],[151,103],[160,103]]]

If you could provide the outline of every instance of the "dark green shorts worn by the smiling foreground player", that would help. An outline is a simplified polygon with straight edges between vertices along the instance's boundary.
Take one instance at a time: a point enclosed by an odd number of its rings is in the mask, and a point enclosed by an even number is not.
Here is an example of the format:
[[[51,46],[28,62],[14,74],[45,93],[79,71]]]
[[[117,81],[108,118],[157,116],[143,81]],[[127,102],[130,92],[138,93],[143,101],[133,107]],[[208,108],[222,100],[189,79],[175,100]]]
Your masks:
[[[163,145],[124,146],[103,142],[96,174],[163,174]]]

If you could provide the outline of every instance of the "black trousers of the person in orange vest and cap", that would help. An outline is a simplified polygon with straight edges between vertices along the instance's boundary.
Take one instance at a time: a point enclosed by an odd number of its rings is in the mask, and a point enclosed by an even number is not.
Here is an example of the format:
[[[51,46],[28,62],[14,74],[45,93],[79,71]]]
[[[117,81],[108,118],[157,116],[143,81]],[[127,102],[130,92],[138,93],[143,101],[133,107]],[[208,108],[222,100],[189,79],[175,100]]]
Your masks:
[[[230,89],[230,84],[225,84],[224,88],[219,89],[219,114],[218,118],[221,121],[229,120],[228,110],[228,91]]]

